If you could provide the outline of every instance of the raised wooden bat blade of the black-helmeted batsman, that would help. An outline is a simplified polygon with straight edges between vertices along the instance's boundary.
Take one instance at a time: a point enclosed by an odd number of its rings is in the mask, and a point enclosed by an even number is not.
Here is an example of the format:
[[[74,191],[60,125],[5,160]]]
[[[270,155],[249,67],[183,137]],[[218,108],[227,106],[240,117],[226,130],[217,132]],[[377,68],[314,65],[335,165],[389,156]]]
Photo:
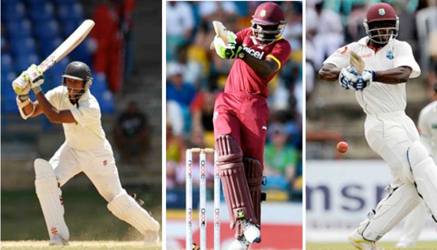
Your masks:
[[[47,69],[62,60],[69,52],[71,52],[71,50],[75,49],[93,29],[94,24],[93,20],[85,20],[75,30],[75,32],[71,33],[58,48],[56,48],[42,63],[40,63],[39,67],[42,72],[46,72]]]

